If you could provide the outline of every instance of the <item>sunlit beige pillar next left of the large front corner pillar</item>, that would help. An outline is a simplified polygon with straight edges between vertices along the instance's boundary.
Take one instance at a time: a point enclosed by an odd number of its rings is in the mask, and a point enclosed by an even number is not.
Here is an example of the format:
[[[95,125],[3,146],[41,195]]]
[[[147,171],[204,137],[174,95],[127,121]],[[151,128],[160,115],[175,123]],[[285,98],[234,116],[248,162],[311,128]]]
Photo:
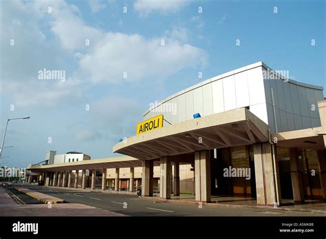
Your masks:
[[[195,152],[195,200],[210,202],[209,150]]]

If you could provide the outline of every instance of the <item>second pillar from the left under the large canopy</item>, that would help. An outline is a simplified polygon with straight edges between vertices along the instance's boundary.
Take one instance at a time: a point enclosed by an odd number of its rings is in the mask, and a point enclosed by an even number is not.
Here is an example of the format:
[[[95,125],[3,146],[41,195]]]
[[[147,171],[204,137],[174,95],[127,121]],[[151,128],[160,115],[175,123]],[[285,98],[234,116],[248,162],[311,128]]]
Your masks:
[[[160,198],[171,198],[171,157],[160,158]]]

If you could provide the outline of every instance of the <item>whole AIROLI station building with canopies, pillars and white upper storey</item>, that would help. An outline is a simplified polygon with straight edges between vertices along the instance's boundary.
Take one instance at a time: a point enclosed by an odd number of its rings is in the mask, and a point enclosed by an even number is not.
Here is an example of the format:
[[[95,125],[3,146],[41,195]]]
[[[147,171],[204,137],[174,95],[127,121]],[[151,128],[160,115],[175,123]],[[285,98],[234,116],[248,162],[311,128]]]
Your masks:
[[[135,135],[113,146],[124,156],[28,170],[45,185],[141,186],[143,196],[162,200],[184,193],[197,202],[241,195],[265,206],[326,199],[323,87],[258,62],[151,105]]]

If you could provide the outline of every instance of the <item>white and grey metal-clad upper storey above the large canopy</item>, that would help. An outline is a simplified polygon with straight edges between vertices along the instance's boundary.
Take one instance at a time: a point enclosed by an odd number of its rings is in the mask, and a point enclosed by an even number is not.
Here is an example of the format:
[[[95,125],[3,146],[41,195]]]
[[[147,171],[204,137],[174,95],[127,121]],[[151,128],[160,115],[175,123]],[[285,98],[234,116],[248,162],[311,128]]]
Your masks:
[[[164,114],[171,124],[201,116],[247,107],[267,123],[271,132],[319,127],[318,101],[323,87],[264,74],[263,62],[215,76],[164,99],[144,113],[144,120]],[[164,121],[164,125],[169,125]]]

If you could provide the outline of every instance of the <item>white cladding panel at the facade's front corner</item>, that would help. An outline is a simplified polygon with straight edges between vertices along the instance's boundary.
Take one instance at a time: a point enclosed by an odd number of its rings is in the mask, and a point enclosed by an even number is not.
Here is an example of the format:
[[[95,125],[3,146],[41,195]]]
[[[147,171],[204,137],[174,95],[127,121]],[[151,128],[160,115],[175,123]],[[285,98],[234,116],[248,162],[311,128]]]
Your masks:
[[[266,102],[262,67],[247,70],[250,105]]]

